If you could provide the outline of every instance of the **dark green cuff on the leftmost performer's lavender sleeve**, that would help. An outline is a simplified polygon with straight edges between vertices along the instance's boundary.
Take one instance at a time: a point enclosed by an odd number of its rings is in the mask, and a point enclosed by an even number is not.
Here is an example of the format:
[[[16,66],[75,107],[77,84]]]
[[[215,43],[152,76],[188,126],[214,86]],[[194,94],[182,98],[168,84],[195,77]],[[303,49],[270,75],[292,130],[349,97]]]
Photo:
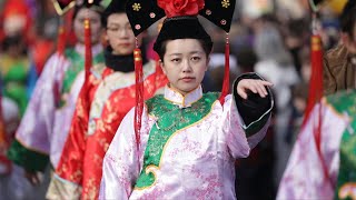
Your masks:
[[[48,154],[30,150],[14,140],[8,151],[8,157],[16,164],[23,167],[27,171],[44,171],[49,157]]]

